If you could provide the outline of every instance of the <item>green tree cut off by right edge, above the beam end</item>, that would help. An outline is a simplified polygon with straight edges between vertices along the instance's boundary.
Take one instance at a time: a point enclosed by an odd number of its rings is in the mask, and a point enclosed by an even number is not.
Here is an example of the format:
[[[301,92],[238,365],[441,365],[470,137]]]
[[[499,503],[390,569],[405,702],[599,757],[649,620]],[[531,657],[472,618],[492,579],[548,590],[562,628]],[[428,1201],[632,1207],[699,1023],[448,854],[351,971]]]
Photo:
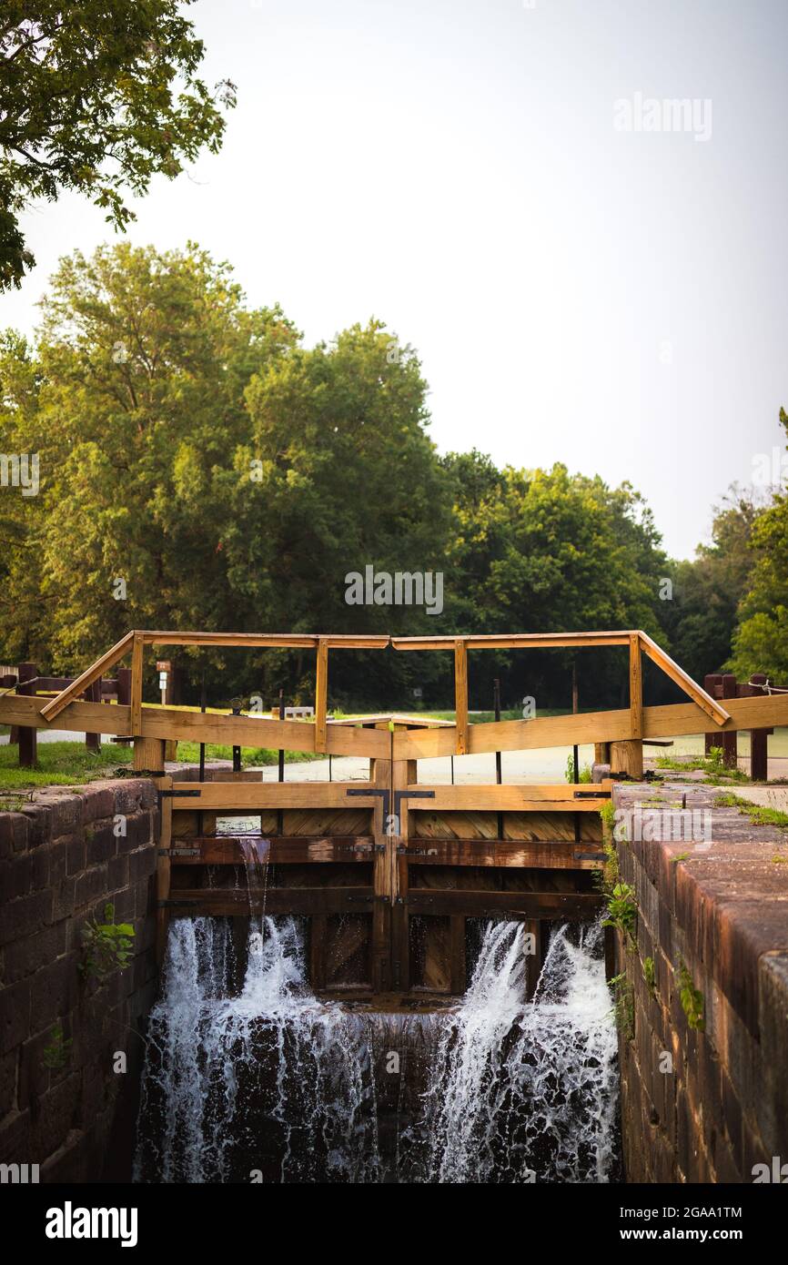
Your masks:
[[[788,433],[788,414],[780,409]],[[753,529],[755,567],[739,607],[730,670],[739,677],[765,672],[788,684],[788,495],[779,492]]]

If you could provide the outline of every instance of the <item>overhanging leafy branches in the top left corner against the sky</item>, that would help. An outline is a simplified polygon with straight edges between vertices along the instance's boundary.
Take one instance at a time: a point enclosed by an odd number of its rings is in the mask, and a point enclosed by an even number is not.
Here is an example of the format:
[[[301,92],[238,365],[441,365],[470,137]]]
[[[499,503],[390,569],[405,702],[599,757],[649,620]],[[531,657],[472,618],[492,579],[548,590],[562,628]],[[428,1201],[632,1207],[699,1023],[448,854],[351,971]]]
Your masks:
[[[178,175],[224,132],[196,76],[204,46],[180,11],[192,0],[6,0],[0,25],[0,288],[34,264],[19,213],[62,190],[87,194],[124,229],[123,195]]]

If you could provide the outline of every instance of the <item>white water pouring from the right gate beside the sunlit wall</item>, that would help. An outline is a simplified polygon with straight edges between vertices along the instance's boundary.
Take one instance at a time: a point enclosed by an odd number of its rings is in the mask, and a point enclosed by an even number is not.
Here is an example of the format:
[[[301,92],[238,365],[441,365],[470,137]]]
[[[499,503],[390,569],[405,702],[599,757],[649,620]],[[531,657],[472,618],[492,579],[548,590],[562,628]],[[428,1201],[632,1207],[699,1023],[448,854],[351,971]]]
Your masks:
[[[553,936],[524,1003],[524,927],[489,922],[444,1027],[425,1095],[429,1182],[607,1182],[615,1168],[616,1032],[601,929]]]

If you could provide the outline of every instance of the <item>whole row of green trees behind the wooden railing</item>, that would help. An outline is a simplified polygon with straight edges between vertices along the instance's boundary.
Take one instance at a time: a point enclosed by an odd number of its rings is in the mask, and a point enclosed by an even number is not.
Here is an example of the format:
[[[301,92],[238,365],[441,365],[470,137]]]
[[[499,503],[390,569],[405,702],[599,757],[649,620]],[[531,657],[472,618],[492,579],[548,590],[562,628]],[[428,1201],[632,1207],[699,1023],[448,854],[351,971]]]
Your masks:
[[[712,544],[673,562],[629,483],[439,455],[420,362],[382,321],[305,348],[278,306],[249,309],[230,268],[194,244],[66,258],[42,314],[33,345],[6,331],[0,350],[0,448],[38,454],[39,481],[23,496],[5,462],[3,662],[72,672],[132,627],[643,627],[694,677],[731,663],[788,679],[779,495],[734,492]],[[367,567],[441,573],[440,614],[348,603],[345,577]],[[309,700],[311,658],[178,663],[187,701],[205,669],[210,702],[269,702],[280,687]],[[581,706],[624,701],[622,655],[583,651],[578,673]],[[567,651],[472,655],[473,707],[491,705],[495,676],[506,707],[570,703]],[[670,688],[648,676],[653,700]],[[330,702],[450,706],[449,657],[336,651]]]

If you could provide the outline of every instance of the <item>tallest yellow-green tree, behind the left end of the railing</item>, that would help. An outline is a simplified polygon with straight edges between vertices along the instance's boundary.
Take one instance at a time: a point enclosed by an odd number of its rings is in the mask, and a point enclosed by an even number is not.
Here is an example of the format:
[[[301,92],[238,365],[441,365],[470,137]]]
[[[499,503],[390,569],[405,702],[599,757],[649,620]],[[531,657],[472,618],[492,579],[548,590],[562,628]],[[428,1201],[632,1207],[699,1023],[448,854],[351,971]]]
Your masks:
[[[46,643],[70,669],[129,627],[226,626],[215,471],[247,438],[249,378],[297,331],[278,307],[248,311],[228,266],[194,245],[77,253],[43,311],[34,369],[20,345],[0,363],[42,479],[0,595],[8,653]]]

